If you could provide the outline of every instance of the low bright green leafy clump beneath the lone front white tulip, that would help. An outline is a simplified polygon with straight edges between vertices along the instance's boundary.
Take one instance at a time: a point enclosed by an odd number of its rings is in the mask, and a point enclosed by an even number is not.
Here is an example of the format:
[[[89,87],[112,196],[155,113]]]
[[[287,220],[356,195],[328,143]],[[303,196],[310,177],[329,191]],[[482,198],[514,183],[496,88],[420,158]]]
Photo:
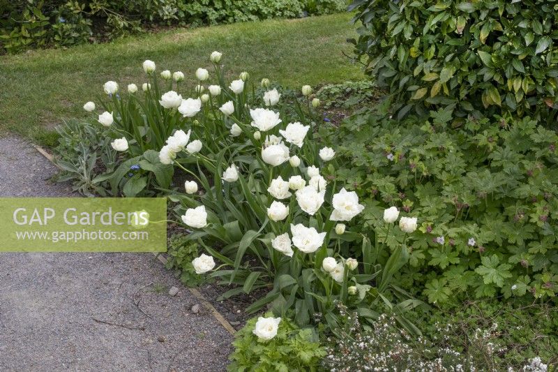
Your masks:
[[[300,329],[288,318],[281,318],[277,336],[258,340],[252,330],[257,318],[248,320],[236,333],[229,371],[317,371],[325,352],[313,329]]]

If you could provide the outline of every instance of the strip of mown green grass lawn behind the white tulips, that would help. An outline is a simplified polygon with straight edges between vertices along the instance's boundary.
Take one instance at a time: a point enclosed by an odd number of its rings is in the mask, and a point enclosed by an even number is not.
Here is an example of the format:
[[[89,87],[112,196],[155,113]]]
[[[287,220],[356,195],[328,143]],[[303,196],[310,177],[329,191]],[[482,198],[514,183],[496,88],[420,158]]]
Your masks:
[[[158,70],[181,70],[190,82],[196,68],[209,68],[209,54],[223,52],[234,75],[246,70],[287,87],[342,82],[361,77],[349,63],[349,14],[299,20],[269,20],[199,29],[175,29],[68,50],[38,50],[0,58],[0,134],[36,137],[61,119],[82,117],[107,80],[121,87],[144,82],[142,61]]]

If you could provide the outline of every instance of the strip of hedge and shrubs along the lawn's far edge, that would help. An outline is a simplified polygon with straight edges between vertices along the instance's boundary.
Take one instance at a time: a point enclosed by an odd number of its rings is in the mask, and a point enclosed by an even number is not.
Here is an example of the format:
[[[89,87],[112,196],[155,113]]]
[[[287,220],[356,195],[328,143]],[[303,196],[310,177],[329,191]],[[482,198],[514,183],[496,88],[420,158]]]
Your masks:
[[[9,53],[33,47],[96,43],[147,28],[222,24],[322,15],[345,10],[345,0],[94,0],[4,1],[1,47]]]

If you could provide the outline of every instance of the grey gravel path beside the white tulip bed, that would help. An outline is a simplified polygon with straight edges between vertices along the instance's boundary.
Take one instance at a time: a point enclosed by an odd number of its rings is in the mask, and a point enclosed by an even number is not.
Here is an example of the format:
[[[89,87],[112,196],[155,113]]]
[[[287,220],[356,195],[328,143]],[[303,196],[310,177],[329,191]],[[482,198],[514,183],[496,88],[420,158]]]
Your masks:
[[[55,171],[0,138],[0,196],[72,195]],[[0,371],[223,371],[232,336],[197,303],[151,253],[0,253]]]

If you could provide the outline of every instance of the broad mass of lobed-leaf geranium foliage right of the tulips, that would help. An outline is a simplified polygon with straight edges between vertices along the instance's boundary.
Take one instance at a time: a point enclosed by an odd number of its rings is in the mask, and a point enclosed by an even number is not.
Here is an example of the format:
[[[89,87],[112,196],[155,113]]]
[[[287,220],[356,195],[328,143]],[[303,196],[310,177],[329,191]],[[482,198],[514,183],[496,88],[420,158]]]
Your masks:
[[[379,230],[384,239],[386,204],[418,217],[410,265],[394,280],[432,303],[453,303],[465,292],[555,296],[557,133],[529,117],[469,118],[451,128],[452,117],[439,110],[427,121],[396,123],[355,114],[333,129],[347,161],[337,179],[366,205],[363,223],[349,230],[370,237]]]

